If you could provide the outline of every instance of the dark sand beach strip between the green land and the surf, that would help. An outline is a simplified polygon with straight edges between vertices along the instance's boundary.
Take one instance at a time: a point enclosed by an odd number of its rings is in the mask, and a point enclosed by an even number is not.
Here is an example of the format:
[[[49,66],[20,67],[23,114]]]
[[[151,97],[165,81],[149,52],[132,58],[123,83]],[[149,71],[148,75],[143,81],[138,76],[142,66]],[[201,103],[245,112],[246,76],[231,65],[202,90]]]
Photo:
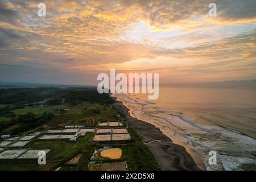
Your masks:
[[[115,100],[115,107],[126,114],[127,122],[142,139],[142,143],[148,146],[162,170],[205,170],[205,167],[196,165],[185,147],[173,143],[154,125],[131,117],[129,109],[123,105],[122,101],[117,101],[116,97],[112,98]]]

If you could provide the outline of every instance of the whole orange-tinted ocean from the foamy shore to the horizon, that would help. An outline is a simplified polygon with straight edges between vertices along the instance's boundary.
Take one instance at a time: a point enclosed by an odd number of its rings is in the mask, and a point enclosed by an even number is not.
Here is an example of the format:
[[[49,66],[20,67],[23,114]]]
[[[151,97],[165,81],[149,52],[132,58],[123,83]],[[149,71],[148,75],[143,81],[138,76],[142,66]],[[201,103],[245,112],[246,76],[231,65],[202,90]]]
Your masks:
[[[207,170],[256,168],[256,89],[160,87],[146,94],[113,94],[133,117],[184,146]],[[217,164],[209,164],[209,151]]]

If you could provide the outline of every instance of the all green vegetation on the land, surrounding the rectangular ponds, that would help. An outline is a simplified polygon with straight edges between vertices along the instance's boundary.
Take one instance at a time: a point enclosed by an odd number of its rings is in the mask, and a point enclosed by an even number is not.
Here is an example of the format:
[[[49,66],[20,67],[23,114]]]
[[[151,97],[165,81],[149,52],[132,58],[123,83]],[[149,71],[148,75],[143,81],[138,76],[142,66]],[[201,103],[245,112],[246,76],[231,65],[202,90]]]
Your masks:
[[[114,101],[109,94],[99,94],[96,89],[86,88],[34,88],[0,89],[0,133],[16,135],[40,127],[65,125],[85,125],[88,118],[121,119],[126,115],[113,108]],[[125,124],[126,125],[126,124]],[[126,160],[130,170],[158,170],[154,156],[133,129],[128,128],[134,142],[119,146],[121,159],[102,159],[106,163]],[[47,165],[36,162],[1,162],[0,169],[49,170],[61,167],[62,170],[88,170],[88,163],[94,150],[99,146],[90,143],[93,134],[86,134],[71,143],[67,140],[35,141],[30,148],[52,148],[47,157]],[[111,144],[110,144],[111,145]],[[79,164],[67,164],[78,154],[82,154]]]

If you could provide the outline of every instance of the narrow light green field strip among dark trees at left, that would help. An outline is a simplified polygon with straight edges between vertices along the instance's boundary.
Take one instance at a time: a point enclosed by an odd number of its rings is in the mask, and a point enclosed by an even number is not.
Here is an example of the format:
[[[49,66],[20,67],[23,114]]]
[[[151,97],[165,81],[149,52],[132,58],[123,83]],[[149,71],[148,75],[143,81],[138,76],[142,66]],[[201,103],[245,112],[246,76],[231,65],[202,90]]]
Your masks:
[[[35,115],[40,115],[43,113],[53,112],[55,109],[65,109],[64,105],[56,105],[56,106],[48,106],[43,108],[30,108],[27,107],[25,109],[15,109],[13,112],[14,114],[27,114],[27,113],[34,113]]]

